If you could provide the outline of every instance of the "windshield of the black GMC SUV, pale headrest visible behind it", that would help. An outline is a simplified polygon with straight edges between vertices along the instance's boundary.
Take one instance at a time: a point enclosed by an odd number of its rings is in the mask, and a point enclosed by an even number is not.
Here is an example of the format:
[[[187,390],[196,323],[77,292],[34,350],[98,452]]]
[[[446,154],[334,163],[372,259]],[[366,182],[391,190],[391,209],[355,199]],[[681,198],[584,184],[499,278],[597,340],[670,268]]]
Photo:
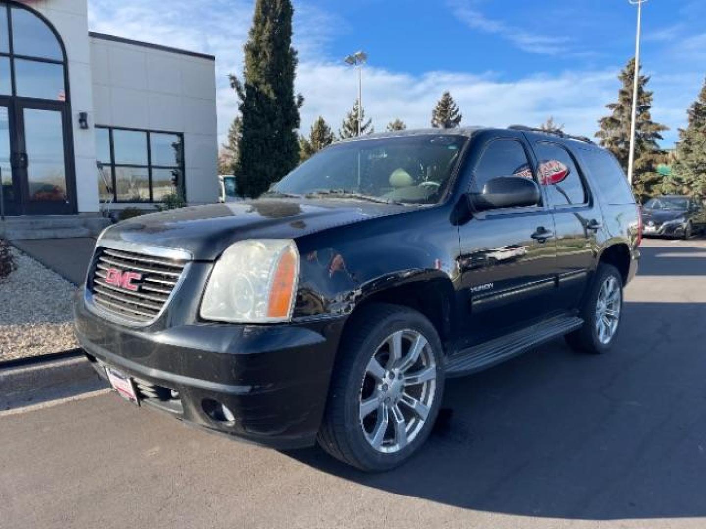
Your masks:
[[[332,145],[282,178],[270,194],[436,204],[466,140],[429,134]]]

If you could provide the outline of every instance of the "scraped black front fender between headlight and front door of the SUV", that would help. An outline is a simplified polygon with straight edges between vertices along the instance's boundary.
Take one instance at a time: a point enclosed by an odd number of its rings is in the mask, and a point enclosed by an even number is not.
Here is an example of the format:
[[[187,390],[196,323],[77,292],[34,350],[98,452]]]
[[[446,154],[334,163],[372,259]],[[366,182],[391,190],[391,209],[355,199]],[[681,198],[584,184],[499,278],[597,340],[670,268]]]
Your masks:
[[[347,315],[390,288],[443,284],[453,297],[457,228],[441,207],[342,226],[297,241],[294,317]]]

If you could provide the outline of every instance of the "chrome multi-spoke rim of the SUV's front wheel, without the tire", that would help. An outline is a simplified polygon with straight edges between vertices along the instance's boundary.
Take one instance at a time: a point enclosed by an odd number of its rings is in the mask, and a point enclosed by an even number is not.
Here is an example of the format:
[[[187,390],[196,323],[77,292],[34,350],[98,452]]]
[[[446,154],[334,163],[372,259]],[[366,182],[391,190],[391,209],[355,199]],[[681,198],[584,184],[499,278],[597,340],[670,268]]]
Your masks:
[[[400,451],[419,434],[436,397],[431,344],[412,329],[390,334],[370,359],[360,389],[360,425],[370,446]]]

